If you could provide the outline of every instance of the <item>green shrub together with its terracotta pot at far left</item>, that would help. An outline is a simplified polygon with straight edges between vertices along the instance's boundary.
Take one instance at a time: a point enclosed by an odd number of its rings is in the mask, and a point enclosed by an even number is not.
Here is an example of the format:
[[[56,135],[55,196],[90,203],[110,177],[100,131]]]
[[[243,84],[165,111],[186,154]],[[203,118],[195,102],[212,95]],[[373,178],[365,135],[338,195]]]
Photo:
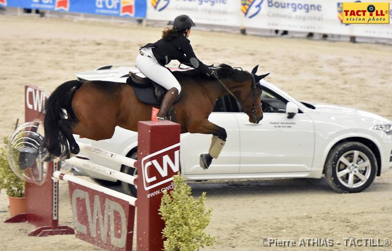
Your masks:
[[[8,164],[7,141],[7,138],[4,137],[4,145],[0,148],[0,189],[6,190],[12,217],[26,212],[25,181],[16,176]]]

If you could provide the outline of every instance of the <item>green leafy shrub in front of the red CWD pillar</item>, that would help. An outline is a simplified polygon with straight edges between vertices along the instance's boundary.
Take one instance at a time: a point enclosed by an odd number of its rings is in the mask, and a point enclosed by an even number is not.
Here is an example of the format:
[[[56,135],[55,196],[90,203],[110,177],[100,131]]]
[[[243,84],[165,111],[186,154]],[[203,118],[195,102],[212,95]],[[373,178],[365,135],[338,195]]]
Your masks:
[[[181,175],[174,176],[175,188],[164,192],[159,214],[165,221],[163,230],[165,251],[198,251],[204,246],[212,246],[215,237],[204,232],[210,224],[212,208],[205,210],[206,193],[195,201],[191,187]]]

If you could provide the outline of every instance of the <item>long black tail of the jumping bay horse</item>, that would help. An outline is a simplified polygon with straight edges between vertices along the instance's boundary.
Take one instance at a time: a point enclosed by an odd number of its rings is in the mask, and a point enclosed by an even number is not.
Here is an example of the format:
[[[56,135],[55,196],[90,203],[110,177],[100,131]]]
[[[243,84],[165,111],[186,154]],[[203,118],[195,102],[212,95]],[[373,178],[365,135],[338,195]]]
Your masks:
[[[69,145],[65,134],[59,126],[61,119],[66,119],[67,114],[73,115],[73,93],[82,85],[82,81],[71,80],[65,82],[54,90],[45,102],[44,147],[50,154],[60,156],[64,151],[68,152]]]

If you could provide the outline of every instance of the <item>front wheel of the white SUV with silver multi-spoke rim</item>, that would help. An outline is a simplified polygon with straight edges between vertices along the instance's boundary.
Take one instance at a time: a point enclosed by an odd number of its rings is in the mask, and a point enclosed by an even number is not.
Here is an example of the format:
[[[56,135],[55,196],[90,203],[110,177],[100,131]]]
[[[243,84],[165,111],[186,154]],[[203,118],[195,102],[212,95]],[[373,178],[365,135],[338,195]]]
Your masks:
[[[359,142],[344,142],[335,146],[324,166],[328,184],[338,192],[362,192],[374,181],[377,161],[373,152]]]

